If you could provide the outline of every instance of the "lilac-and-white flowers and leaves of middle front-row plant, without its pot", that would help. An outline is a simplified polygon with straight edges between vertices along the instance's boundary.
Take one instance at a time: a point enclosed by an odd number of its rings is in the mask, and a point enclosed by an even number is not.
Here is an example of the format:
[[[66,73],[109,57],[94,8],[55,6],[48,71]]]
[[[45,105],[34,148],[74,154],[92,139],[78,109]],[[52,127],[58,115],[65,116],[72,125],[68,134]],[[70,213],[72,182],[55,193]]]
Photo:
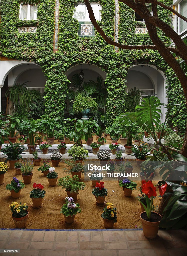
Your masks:
[[[66,197],[65,204],[63,204],[60,213],[64,214],[65,217],[76,215],[81,212],[79,204],[74,204],[73,197]]]

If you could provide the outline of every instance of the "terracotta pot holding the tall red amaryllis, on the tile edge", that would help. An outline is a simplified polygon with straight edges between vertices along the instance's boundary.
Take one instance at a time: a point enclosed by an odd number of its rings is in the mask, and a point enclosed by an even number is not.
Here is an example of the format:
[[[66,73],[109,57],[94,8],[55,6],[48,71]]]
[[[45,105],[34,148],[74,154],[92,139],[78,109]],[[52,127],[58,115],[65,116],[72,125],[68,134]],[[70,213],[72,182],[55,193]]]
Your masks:
[[[156,222],[147,221],[147,220],[143,219],[144,216],[145,216],[145,211],[140,213],[140,221],[141,221],[141,224],[142,224],[144,236],[149,238],[149,239],[156,238],[158,230],[159,230],[159,224],[160,224],[160,221],[162,219],[162,216],[160,214],[156,213],[156,212],[151,212],[151,215],[152,216],[158,216],[157,218],[160,219],[160,220],[156,221]]]

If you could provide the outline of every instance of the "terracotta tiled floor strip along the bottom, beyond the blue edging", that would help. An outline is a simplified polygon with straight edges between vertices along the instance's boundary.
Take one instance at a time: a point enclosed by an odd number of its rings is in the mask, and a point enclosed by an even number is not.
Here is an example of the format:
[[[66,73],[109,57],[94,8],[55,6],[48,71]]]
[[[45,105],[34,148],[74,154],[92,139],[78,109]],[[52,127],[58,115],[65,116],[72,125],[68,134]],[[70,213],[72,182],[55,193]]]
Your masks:
[[[141,230],[0,230],[1,249],[20,249],[20,253],[1,253],[7,256],[186,256],[186,239],[184,230],[159,230],[152,240]]]

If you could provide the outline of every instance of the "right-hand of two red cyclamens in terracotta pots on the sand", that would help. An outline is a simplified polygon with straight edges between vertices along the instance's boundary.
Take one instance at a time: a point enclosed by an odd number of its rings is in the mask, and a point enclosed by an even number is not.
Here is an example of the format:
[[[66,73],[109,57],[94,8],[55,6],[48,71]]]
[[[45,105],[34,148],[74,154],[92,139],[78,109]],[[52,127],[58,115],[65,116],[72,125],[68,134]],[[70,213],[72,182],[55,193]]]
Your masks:
[[[100,183],[96,183],[95,188],[92,190],[92,194],[95,196],[97,206],[106,205],[105,197],[108,195],[108,191],[103,184],[104,182],[102,181],[100,181]]]

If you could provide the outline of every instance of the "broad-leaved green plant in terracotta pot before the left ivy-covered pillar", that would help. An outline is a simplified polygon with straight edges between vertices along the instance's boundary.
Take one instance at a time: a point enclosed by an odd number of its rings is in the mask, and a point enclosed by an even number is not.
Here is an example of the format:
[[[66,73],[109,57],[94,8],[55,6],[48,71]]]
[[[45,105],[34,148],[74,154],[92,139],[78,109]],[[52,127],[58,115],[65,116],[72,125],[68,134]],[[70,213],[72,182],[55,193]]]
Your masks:
[[[47,136],[47,143],[50,145],[54,144],[54,128],[56,127],[58,129],[62,127],[57,118],[41,120],[41,129],[45,130]]]

